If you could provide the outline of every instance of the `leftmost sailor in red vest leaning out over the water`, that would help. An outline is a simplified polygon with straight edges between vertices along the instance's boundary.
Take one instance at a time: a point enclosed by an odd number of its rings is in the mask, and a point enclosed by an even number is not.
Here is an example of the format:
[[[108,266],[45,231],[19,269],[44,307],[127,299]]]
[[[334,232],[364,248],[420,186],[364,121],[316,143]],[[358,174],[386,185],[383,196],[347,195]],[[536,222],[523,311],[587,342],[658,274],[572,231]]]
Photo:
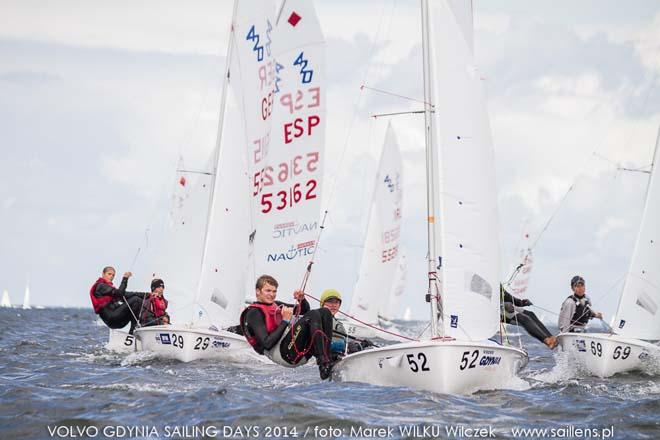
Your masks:
[[[128,279],[132,275],[131,272],[124,273],[119,288],[115,288],[112,284],[112,280],[115,278],[115,268],[106,266],[103,268],[101,277],[89,289],[94,313],[99,315],[105,325],[110,328],[123,328],[130,322],[131,328],[128,331],[130,334],[133,334],[133,330],[135,330],[142,302],[148,295],[144,292],[126,292]]]

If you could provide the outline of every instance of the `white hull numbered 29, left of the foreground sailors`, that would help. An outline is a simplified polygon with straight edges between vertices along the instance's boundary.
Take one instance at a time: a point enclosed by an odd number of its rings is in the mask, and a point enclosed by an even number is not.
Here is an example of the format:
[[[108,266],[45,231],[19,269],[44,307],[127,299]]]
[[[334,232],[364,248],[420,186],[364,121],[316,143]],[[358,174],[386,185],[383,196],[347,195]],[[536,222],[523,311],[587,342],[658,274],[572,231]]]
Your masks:
[[[245,338],[226,331],[157,325],[135,330],[141,349],[160,358],[191,362],[197,359],[240,360],[256,354]]]

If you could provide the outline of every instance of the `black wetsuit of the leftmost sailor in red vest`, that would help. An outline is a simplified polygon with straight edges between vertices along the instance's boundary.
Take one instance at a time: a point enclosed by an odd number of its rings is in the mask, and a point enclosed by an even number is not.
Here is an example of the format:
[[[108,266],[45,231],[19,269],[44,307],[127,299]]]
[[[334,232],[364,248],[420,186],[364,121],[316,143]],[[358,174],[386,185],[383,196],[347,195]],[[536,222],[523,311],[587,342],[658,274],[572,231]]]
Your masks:
[[[99,316],[110,328],[123,328],[131,323],[129,333],[133,334],[137,321],[135,317],[140,316],[140,309],[146,292],[126,292],[128,278],[122,278],[118,288],[108,284],[99,283],[94,290],[94,296],[112,296],[112,301],[105,305],[100,311]],[[129,309],[130,307],[130,309]],[[131,313],[131,310],[133,313]]]

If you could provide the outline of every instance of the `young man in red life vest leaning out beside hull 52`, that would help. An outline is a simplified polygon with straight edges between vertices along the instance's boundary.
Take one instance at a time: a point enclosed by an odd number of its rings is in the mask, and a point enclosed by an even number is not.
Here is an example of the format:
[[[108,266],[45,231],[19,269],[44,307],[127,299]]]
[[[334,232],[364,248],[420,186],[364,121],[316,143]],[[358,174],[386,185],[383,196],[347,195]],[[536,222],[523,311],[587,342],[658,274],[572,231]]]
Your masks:
[[[241,327],[254,350],[284,367],[298,367],[316,357],[322,380],[332,373],[330,340],[332,314],[326,308],[310,310],[305,293],[293,295],[299,305],[275,301],[278,283],[270,275],[257,279],[257,300],[241,313]],[[294,308],[298,319],[293,323]]]

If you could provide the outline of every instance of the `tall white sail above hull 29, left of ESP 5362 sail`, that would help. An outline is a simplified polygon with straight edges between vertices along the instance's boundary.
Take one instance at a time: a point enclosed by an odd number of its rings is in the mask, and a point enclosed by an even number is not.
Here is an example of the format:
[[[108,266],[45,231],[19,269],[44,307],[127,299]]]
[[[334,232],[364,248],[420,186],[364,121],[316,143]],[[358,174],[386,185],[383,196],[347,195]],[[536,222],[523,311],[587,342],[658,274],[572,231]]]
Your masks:
[[[248,155],[266,148],[274,87],[271,52],[274,3],[235,4],[225,106],[218,129],[218,161],[197,303],[199,318],[220,326],[238,322],[245,298],[251,224]]]

